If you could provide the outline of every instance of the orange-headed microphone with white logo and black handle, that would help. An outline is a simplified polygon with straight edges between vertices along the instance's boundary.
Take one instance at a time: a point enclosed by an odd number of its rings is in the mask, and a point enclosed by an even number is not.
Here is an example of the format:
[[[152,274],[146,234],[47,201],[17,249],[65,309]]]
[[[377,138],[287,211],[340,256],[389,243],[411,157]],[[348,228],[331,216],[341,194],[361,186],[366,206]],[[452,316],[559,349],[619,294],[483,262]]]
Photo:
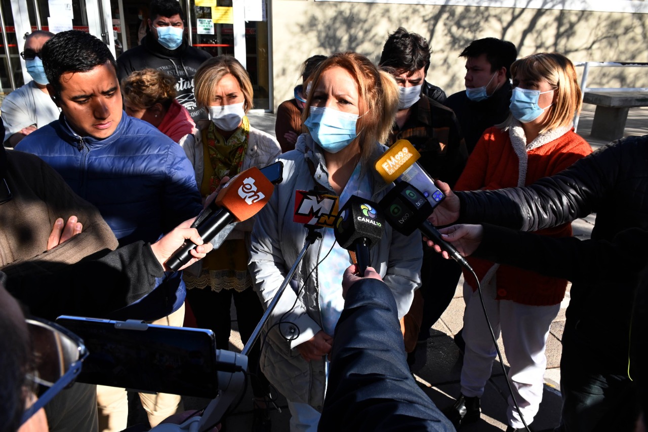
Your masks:
[[[196,226],[198,234],[207,243],[227,224],[245,221],[253,217],[270,200],[274,189],[272,182],[257,167],[251,167],[238,173],[220,189],[211,204],[216,206],[216,210]],[[191,240],[185,241],[167,260],[167,267],[176,271],[188,263],[191,260],[190,251],[195,247],[196,244]]]

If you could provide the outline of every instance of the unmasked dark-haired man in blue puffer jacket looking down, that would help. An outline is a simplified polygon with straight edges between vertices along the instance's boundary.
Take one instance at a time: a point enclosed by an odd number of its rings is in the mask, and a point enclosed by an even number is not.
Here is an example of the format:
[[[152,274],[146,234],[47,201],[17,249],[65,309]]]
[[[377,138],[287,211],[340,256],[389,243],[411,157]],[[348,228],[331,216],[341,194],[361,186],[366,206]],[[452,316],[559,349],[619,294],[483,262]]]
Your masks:
[[[122,111],[117,64],[108,47],[95,36],[70,30],[52,37],[41,54],[48,91],[62,114],[23,139],[17,150],[40,156],[80,197],[95,204],[122,245],[154,242],[197,215],[202,205],[191,163],[170,138]],[[120,318],[164,317],[157,323],[181,326],[184,298],[178,273]],[[141,399],[153,426],[181,411],[176,395],[141,394]],[[125,390],[99,390],[98,405],[106,430],[125,429]]]

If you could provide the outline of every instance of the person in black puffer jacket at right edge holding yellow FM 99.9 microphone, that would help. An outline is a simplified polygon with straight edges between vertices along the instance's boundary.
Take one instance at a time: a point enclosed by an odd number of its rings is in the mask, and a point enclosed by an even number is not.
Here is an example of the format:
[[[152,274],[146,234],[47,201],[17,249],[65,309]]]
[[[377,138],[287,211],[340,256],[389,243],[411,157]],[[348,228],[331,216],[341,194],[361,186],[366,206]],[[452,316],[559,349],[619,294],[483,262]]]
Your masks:
[[[612,241],[622,232],[648,230],[648,136],[614,141],[562,173],[527,187],[453,194],[447,185],[439,186],[447,197],[430,218],[433,224],[492,222],[536,231],[596,212],[592,240]],[[518,248],[512,249],[511,253],[533,261]],[[626,253],[630,258],[636,254]],[[569,254],[564,258],[568,263],[562,265],[588,272],[587,257]],[[634,266],[631,274],[618,270],[618,278],[573,281],[562,335],[562,431],[634,427],[639,386],[632,385],[631,378],[643,376],[645,367],[645,360],[636,361],[645,359],[645,340],[633,334],[645,328],[645,313],[634,311],[634,288],[642,270]]]

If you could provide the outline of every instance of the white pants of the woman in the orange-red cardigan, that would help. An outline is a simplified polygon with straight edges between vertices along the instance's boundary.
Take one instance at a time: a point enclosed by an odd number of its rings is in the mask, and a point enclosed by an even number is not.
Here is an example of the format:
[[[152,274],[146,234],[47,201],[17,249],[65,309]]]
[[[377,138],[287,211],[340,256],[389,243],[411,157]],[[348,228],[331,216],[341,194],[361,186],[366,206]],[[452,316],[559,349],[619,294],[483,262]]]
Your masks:
[[[561,305],[528,306],[511,300],[495,300],[496,286],[489,283],[481,287],[483,300],[491,320],[495,337],[502,332],[506,358],[511,365],[509,379],[515,398],[527,424],[538,413],[544,384],[547,357],[544,351],[551,321],[558,315]],[[466,350],[461,368],[461,393],[467,397],[481,398],[486,381],[491,378],[492,361],[497,356],[492,342],[478,291],[465,283],[463,296],[466,311],[463,315],[463,340]],[[509,425],[524,427],[509,396],[507,409]]]

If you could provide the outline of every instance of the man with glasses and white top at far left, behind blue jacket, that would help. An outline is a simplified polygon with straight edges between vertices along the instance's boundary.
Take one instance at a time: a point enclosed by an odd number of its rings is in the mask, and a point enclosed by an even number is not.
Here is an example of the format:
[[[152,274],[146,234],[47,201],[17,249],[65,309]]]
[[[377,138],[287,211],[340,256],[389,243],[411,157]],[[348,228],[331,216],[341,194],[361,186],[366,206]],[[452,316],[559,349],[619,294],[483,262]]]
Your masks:
[[[25,49],[20,55],[33,80],[9,93],[2,101],[7,147],[14,147],[34,130],[58,120],[60,113],[47,92],[47,77],[41,58],[41,49],[52,36],[54,33],[35,30],[25,38]]]

